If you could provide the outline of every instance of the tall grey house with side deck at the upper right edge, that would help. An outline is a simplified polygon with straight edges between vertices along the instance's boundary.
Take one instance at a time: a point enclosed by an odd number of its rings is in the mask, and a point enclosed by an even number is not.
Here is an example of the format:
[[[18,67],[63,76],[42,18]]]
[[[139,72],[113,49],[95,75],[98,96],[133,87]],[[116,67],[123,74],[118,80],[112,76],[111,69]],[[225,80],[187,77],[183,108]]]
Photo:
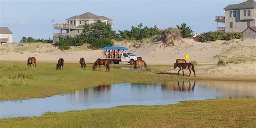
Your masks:
[[[254,0],[227,5],[224,10],[225,16],[215,17],[217,31],[242,32],[246,38],[256,38],[256,2]],[[225,23],[225,27],[219,27],[218,23]]]

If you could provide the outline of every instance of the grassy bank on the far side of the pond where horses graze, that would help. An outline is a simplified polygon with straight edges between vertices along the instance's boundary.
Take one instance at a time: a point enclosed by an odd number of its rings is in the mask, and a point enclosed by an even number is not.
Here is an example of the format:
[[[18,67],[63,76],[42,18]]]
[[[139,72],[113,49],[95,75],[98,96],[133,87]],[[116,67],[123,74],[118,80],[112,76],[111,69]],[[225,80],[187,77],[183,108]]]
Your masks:
[[[1,62],[0,100],[47,97],[102,84],[179,79],[145,70],[118,69],[118,66],[127,65],[111,65],[110,72],[105,72],[104,66],[102,71],[92,71],[92,64],[87,64],[86,69],[80,69],[79,64],[65,64],[64,70],[56,70],[56,63],[38,63],[35,69],[28,68],[25,62]]]

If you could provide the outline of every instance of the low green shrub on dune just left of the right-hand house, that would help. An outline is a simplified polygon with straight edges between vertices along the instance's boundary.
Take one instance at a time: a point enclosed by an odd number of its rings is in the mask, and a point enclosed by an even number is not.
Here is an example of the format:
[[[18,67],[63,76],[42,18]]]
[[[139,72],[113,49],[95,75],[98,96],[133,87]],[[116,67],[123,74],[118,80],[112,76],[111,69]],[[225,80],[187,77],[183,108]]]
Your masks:
[[[224,39],[224,33],[223,32],[218,32],[218,31],[215,31],[215,32],[206,32],[206,33],[203,33],[201,35],[199,35],[199,39],[198,41],[199,42],[207,42],[207,41],[217,41],[217,40],[222,40]]]

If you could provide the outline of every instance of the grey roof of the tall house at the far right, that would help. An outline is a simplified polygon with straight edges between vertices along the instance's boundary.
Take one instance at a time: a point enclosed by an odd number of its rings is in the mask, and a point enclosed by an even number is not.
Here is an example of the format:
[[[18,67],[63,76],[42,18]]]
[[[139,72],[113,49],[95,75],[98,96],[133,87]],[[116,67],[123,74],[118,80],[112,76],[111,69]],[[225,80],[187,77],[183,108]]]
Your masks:
[[[256,2],[254,0],[247,0],[240,4],[230,4],[227,5],[224,10],[233,10],[233,9],[254,9],[256,8]]]

